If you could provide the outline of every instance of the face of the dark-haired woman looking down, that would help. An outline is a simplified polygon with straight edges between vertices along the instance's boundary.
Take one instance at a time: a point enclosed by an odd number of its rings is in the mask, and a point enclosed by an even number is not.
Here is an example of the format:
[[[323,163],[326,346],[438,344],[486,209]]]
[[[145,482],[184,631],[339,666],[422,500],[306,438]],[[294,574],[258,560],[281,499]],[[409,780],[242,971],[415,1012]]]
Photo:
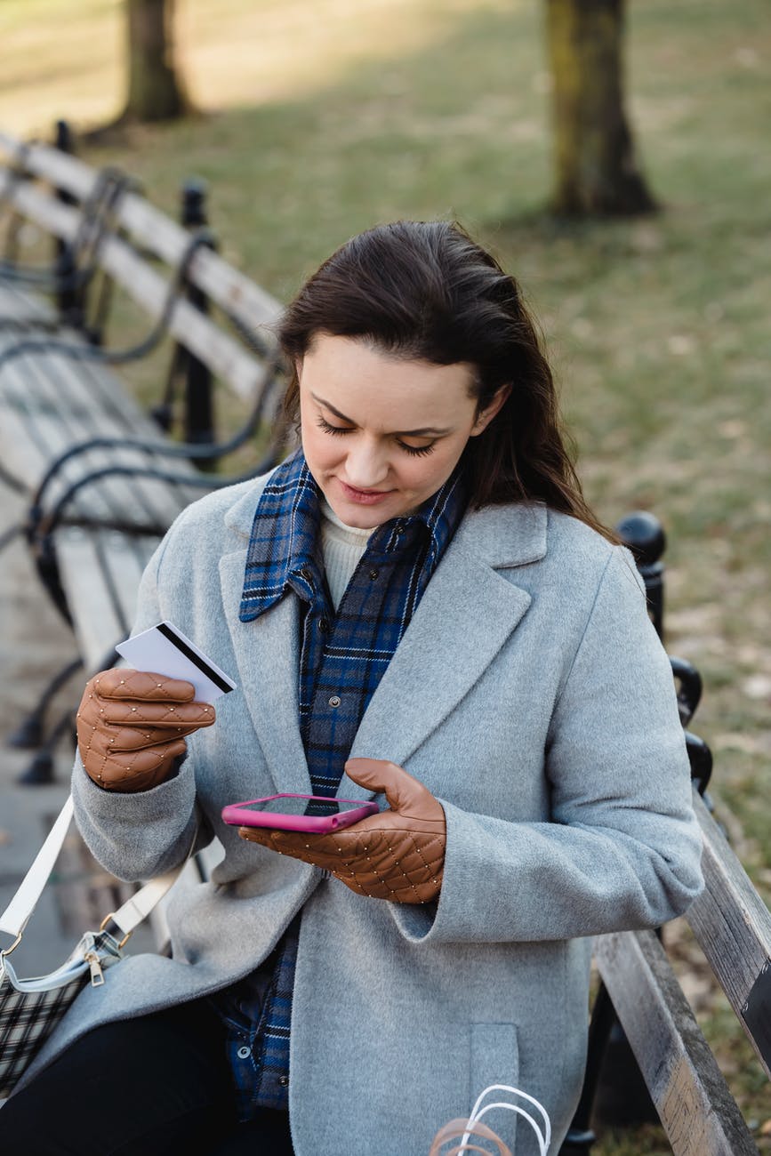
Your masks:
[[[309,469],[340,520],[359,529],[435,494],[507,393],[477,414],[470,365],[403,360],[325,333],[297,376]]]

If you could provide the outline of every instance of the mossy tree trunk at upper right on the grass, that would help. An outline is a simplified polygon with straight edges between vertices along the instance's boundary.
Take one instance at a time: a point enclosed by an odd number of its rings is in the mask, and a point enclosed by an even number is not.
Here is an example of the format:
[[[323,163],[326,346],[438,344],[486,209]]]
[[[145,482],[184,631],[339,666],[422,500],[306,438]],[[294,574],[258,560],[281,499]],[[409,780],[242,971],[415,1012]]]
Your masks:
[[[657,208],[624,112],[623,25],[624,0],[547,0],[559,215]]]

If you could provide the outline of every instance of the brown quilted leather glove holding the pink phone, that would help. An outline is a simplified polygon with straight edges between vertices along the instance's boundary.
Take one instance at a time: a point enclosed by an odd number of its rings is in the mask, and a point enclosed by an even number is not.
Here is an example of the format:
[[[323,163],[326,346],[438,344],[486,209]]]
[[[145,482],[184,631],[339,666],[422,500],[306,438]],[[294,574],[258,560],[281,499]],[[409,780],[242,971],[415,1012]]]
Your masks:
[[[324,867],[351,891],[393,903],[431,903],[442,888],[446,828],[442,803],[402,766],[349,758],[346,773],[384,791],[390,810],[333,835],[240,827],[243,839]]]

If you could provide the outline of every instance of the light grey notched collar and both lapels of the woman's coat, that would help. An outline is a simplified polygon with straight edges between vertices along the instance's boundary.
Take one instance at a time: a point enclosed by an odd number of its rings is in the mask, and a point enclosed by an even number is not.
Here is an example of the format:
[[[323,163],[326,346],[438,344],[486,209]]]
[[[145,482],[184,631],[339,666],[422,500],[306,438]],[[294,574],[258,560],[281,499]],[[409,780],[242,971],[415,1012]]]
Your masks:
[[[239,621],[246,546],[261,487],[229,510],[236,548],[220,561],[225,617],[240,684],[276,790],[310,793],[299,734],[299,603],[284,599],[258,622]],[[406,763],[481,679],[531,602],[496,573],[547,551],[548,511],[540,503],[490,506],[466,514],[429,583],[362,719],[353,755]],[[259,633],[258,633],[259,631]],[[371,798],[343,776],[340,794]]]

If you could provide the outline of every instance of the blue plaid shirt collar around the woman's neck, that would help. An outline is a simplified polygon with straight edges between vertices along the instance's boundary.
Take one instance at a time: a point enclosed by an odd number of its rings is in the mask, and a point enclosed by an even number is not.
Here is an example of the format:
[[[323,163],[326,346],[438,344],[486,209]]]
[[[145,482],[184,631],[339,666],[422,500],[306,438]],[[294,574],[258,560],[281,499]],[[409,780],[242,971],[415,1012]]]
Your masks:
[[[398,550],[407,532],[422,523],[430,534],[429,572],[442,557],[465,505],[460,468],[414,514],[392,518],[372,532],[368,551]],[[323,572],[319,548],[319,489],[302,451],[274,472],[260,497],[246,553],[239,618],[253,622],[291,588],[302,599],[313,595],[312,581]],[[317,586],[318,588],[318,586]]]

